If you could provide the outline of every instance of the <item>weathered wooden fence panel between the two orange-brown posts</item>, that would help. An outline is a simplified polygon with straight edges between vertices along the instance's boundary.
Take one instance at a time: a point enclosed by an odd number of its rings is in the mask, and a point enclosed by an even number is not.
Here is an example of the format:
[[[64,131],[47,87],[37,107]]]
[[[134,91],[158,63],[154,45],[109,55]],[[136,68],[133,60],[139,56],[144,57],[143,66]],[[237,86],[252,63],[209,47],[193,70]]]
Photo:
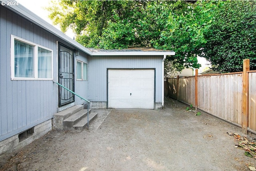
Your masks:
[[[242,83],[242,74],[198,77],[198,108],[241,125],[241,119],[239,122],[237,119],[241,114],[237,111],[242,110],[241,102],[236,103],[242,98],[238,97],[242,95],[238,83]]]

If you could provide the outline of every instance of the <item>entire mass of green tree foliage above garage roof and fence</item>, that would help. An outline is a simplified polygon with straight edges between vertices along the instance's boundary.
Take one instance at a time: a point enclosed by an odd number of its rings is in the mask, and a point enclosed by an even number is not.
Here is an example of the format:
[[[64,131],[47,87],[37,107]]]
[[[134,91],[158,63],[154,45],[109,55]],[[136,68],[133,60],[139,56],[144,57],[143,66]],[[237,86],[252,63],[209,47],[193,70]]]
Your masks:
[[[200,55],[216,70],[228,72],[234,68],[240,70],[241,59],[255,56],[252,51],[256,46],[254,4],[250,1],[60,0],[48,10],[54,24],[60,24],[64,32],[72,28],[76,40],[86,47],[151,46],[174,50],[176,55],[168,56],[166,61],[178,71],[184,67],[199,68],[196,57]]]

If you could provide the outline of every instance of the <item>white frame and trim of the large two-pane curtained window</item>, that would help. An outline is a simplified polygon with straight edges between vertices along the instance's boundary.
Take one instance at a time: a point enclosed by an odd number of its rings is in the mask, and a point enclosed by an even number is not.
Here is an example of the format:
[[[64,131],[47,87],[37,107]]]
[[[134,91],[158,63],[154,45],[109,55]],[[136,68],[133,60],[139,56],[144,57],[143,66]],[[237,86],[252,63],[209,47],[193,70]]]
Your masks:
[[[18,40],[20,42],[24,42],[26,44],[30,44],[34,46],[34,78],[20,78],[20,77],[15,77],[14,75],[14,40]],[[44,48],[46,50],[49,50],[52,52],[52,78],[38,78],[38,47]],[[53,50],[46,48],[44,46],[40,46],[38,44],[32,43],[28,40],[24,40],[22,38],[19,38],[17,36],[11,35],[11,80],[53,80]]]

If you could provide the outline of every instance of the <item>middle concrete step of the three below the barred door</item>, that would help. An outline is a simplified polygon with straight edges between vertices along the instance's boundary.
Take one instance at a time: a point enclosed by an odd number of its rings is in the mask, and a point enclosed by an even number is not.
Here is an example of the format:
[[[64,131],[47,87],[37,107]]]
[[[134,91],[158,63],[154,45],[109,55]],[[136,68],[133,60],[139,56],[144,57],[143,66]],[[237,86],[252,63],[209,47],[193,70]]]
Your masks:
[[[90,112],[91,112],[91,109],[89,109],[89,113]],[[78,111],[77,113],[74,113],[73,115],[71,115],[70,117],[68,117],[67,119],[65,119],[63,121],[64,129],[72,128],[73,125],[78,123],[80,120],[82,120],[86,116],[87,116],[87,109],[82,109],[82,110]]]

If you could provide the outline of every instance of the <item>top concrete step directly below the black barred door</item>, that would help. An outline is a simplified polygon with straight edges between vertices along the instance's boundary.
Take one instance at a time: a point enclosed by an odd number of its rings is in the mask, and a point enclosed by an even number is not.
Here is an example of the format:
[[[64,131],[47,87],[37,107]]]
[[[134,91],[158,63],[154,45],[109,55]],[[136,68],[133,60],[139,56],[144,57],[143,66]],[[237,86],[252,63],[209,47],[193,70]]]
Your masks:
[[[55,113],[53,115],[54,129],[63,129],[63,121],[82,109],[84,109],[84,105],[74,105],[68,109]]]

